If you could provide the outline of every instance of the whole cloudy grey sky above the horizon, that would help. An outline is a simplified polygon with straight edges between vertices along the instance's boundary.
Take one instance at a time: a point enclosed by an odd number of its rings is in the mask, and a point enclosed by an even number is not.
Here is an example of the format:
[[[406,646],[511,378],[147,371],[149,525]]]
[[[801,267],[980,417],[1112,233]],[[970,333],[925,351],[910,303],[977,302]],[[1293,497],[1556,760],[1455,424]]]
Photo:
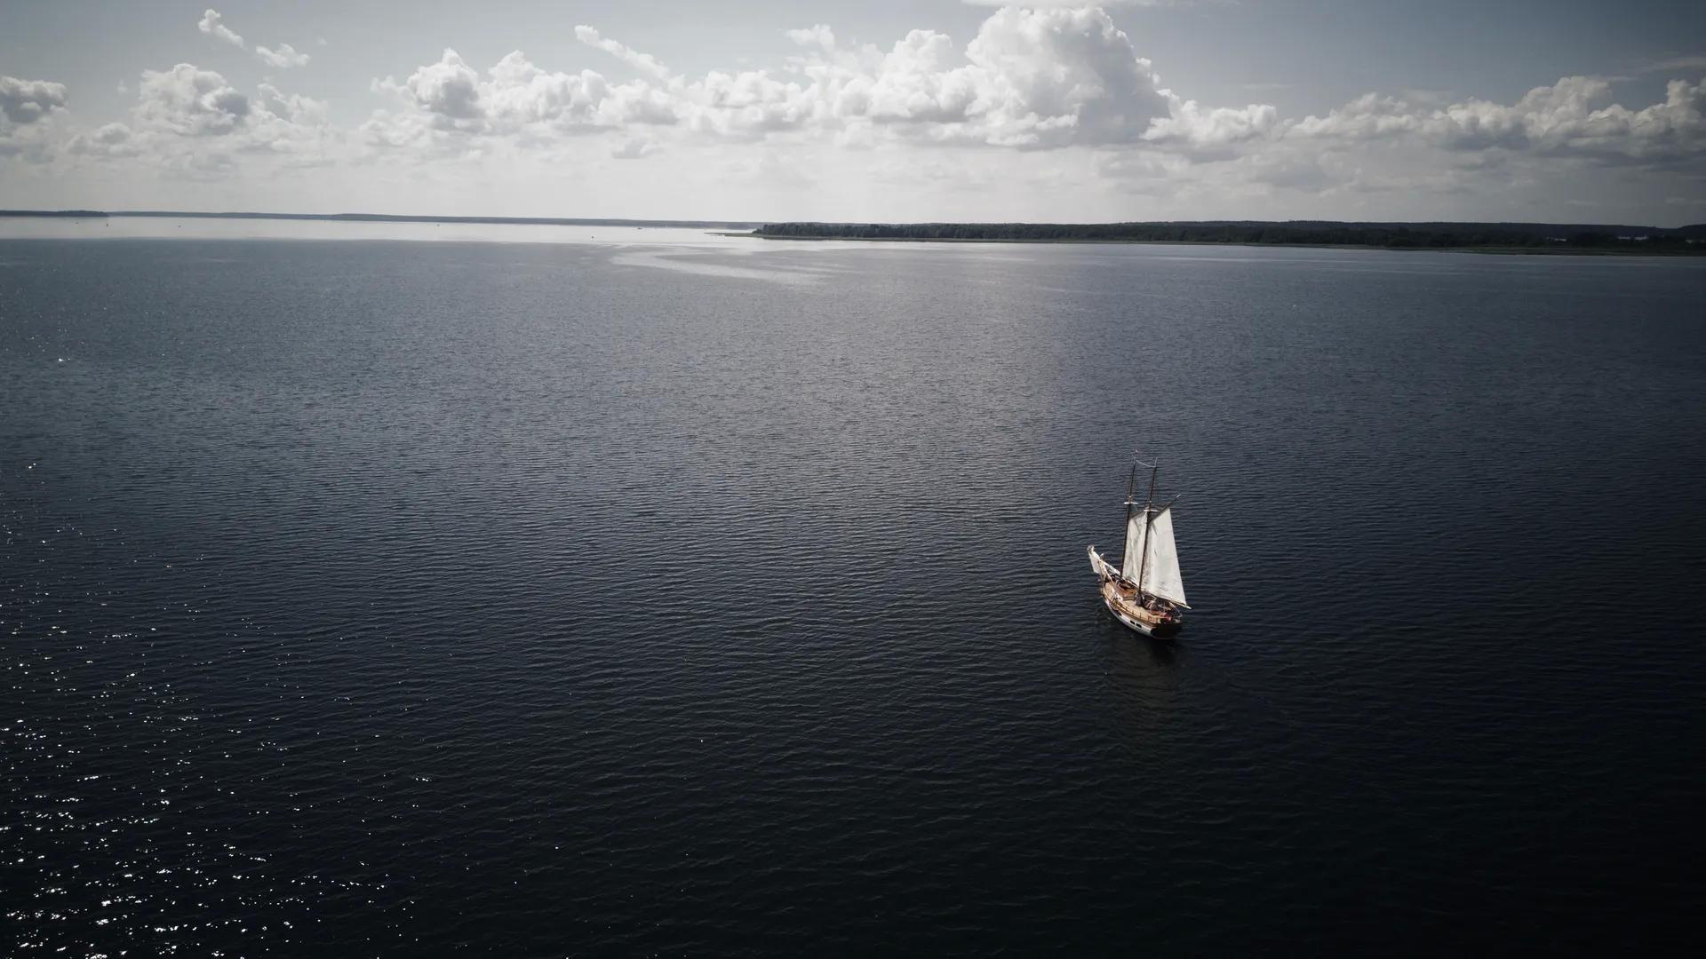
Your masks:
[[[1706,222],[1706,2],[0,0],[0,208]]]

